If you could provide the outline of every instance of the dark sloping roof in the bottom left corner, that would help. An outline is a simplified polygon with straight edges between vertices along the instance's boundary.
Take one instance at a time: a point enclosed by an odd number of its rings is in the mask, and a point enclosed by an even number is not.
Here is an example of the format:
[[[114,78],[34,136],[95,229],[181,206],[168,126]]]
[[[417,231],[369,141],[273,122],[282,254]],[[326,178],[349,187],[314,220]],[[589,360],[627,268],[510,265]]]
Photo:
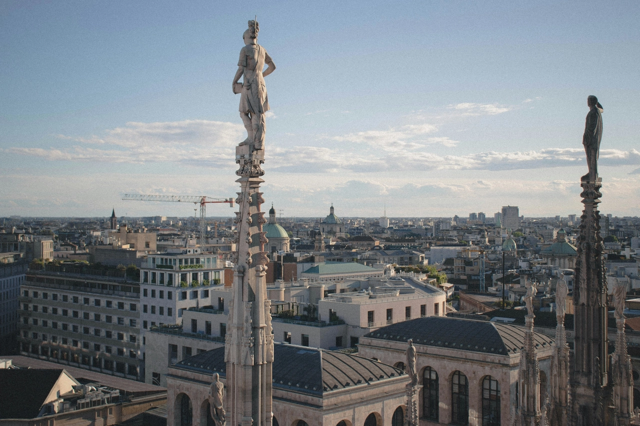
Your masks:
[[[35,418],[63,371],[0,369],[0,418]]]

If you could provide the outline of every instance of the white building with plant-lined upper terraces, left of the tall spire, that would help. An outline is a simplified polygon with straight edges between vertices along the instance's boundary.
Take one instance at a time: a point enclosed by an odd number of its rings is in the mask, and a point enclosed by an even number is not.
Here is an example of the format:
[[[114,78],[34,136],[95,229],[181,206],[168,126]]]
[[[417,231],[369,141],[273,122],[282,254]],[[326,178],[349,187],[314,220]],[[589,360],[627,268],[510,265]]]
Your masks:
[[[188,308],[225,310],[231,287],[225,287],[227,262],[200,248],[169,249],[148,255],[140,268],[140,321],[143,352],[150,327],[182,324]],[[215,294],[215,295],[214,295]]]

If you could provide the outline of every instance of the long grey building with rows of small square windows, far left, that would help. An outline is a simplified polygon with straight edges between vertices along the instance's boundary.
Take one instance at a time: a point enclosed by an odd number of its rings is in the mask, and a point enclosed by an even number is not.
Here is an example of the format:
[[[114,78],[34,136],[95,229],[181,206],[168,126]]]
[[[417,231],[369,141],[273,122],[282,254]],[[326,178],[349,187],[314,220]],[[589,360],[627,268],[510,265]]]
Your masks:
[[[138,283],[28,272],[18,300],[20,354],[143,380]]]

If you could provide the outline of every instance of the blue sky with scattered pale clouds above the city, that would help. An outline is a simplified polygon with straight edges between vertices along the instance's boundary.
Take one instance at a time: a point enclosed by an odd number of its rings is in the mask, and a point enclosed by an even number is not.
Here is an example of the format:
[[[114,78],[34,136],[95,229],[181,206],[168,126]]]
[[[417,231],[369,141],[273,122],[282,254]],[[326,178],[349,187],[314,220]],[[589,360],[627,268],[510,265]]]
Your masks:
[[[640,1],[0,1],[0,217],[190,216],[124,194],[235,196],[247,21],[282,216],[640,212]],[[208,216],[232,216],[223,204]]]

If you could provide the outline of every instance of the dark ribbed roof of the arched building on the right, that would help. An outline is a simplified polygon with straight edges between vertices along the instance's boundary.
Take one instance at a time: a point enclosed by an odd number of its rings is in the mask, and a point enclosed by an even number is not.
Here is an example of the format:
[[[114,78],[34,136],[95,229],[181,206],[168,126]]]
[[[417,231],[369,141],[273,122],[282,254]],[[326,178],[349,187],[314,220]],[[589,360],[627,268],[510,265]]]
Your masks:
[[[365,337],[424,346],[448,347],[456,351],[485,352],[509,356],[524,347],[525,328],[499,322],[449,317],[424,317],[381,327]],[[550,347],[554,340],[534,333],[536,347]]]

